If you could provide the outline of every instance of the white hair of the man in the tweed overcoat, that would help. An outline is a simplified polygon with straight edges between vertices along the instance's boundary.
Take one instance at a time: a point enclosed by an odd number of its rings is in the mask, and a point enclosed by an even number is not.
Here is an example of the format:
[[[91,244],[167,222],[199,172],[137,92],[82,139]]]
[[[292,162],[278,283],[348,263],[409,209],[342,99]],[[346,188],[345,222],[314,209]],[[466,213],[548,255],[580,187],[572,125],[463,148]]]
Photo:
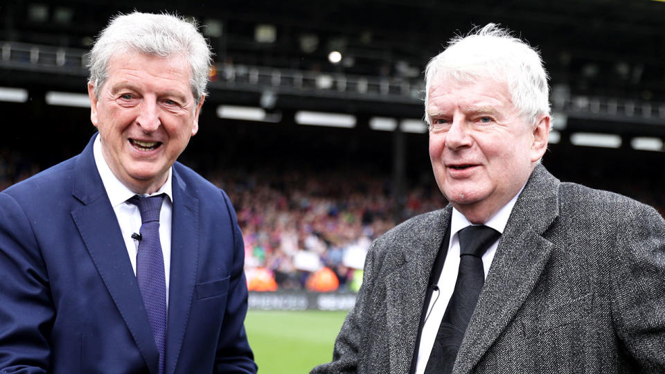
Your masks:
[[[429,60],[425,68],[425,108],[435,79],[506,82],[508,94],[520,116],[533,122],[549,116],[549,87],[540,54],[526,42],[496,24],[474,28],[466,36],[450,39],[445,51]],[[425,121],[431,124],[427,112]]]

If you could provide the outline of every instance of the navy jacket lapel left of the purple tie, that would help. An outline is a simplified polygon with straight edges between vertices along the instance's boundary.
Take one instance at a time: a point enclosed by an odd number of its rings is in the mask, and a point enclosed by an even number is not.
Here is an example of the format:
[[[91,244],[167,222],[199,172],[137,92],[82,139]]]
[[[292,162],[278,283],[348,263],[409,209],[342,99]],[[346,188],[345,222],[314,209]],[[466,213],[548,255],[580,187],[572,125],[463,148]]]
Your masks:
[[[73,210],[71,216],[150,372],[157,373],[159,353],[116,214],[97,171],[94,139],[76,160],[72,194],[83,206]]]

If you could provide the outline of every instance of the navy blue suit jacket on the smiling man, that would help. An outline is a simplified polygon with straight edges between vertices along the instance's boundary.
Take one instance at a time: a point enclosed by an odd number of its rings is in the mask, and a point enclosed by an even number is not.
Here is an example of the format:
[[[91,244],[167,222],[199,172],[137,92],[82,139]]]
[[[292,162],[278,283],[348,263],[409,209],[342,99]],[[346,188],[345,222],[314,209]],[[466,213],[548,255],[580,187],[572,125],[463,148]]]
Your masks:
[[[1,373],[157,373],[93,141],[0,193]],[[231,202],[180,163],[172,188],[166,373],[255,373]]]

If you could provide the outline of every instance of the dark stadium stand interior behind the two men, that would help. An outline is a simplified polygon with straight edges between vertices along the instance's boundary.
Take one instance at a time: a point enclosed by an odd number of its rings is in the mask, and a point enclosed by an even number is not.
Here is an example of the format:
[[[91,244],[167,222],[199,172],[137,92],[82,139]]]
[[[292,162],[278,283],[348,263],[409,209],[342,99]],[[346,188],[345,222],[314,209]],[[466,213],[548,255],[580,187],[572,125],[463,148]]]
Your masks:
[[[303,184],[327,184],[323,195],[341,201],[335,186],[364,175],[383,186],[392,224],[418,213],[405,212],[410,193],[440,195],[427,134],[373,130],[372,118],[422,119],[429,58],[455,33],[495,22],[537,46],[551,75],[553,114],[562,122],[544,165],[562,180],[629,195],[665,213],[665,2],[653,0],[3,0],[0,87],[24,89],[27,98],[0,100],[0,190],[85,146],[94,133],[89,109],[50,105],[46,94],[85,94],[82,63],[91,40],[110,16],[132,10],[177,12],[204,25],[216,71],[199,134],[181,161],[224,188],[266,179],[285,193],[290,184],[280,175],[296,173]],[[342,62],[330,62],[330,51],[340,51]],[[281,119],[220,118],[220,105],[256,107],[265,118]],[[303,110],[349,114],[355,126],[299,125],[294,116]],[[621,144],[578,145],[571,140],[578,133],[618,136]],[[644,150],[635,138],[655,145]],[[373,181],[356,186],[370,194]],[[229,192],[238,211],[249,204]]]

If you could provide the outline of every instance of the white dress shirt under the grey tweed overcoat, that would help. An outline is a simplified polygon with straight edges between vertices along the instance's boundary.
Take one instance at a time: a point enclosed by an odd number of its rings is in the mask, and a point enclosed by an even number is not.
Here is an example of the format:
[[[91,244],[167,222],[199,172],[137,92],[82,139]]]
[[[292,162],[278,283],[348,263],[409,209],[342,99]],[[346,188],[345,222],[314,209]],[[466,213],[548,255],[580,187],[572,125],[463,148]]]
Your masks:
[[[524,189],[524,186],[522,186],[522,189]],[[520,190],[520,192],[517,193],[508,204],[504,205],[501,210],[493,215],[493,217],[485,223],[485,226],[489,226],[496,231],[499,231],[499,233],[504,233],[506,223],[508,223],[508,218],[511,216],[513,206],[515,206],[515,202],[517,202],[517,197],[520,196],[520,193],[522,193],[522,190]],[[457,209],[452,208],[452,217],[450,219],[450,242],[448,243],[448,251],[445,255],[445,262],[443,262],[441,276],[438,278],[438,283],[436,283],[438,291],[434,290],[434,292],[432,292],[432,298],[429,300],[429,306],[427,307],[427,319],[425,320],[425,326],[423,326],[423,332],[420,334],[416,374],[423,374],[425,372],[425,366],[427,366],[429,355],[432,353],[432,346],[434,346],[434,340],[436,340],[438,327],[441,325],[445,308],[447,308],[452,292],[455,289],[457,272],[459,270],[459,238],[457,233],[459,233],[461,229],[471,225],[472,223],[469,222],[462,213],[457,211]],[[497,239],[497,241],[495,241],[483,255],[485,278],[487,278],[487,273],[490,269],[490,265],[492,265],[492,260],[494,260],[494,255],[497,253],[500,239],[501,238],[499,237],[499,239]]]

